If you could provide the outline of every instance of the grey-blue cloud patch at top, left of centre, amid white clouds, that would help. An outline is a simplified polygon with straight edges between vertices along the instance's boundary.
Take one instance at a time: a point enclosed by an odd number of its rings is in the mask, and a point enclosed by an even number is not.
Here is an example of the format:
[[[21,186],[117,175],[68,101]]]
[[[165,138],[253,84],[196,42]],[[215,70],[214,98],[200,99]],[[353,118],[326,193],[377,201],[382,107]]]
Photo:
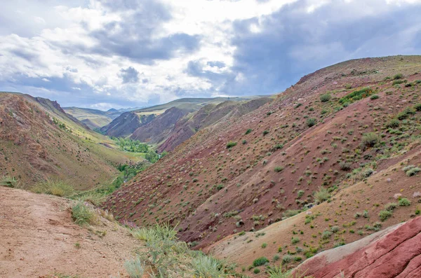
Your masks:
[[[191,53],[199,48],[200,36],[178,33],[153,38],[163,23],[171,20],[171,10],[159,1],[105,1],[114,11],[131,10],[123,21],[110,22],[91,33],[98,41],[90,51],[101,55],[119,55],[142,64],[169,60],[175,53]]]

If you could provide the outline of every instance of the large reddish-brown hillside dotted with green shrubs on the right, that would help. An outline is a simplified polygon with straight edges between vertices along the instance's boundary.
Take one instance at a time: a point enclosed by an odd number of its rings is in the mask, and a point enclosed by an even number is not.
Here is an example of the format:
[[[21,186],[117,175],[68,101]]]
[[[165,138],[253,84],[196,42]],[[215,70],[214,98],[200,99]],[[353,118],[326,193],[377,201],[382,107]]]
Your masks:
[[[294,267],[420,214],[420,91],[421,56],[320,69],[250,113],[203,124],[104,207],[140,226],[178,223],[182,240],[245,274]]]

